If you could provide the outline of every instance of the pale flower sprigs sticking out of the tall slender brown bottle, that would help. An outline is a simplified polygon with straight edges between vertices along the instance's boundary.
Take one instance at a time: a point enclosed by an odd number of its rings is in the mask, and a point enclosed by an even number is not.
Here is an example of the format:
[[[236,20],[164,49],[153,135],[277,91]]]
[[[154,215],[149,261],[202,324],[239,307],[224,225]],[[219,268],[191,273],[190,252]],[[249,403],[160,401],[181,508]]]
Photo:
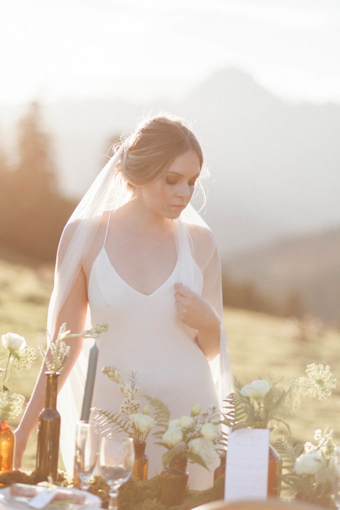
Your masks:
[[[69,338],[82,337],[82,338],[98,338],[103,331],[109,329],[108,324],[96,324],[92,329],[86,329],[82,333],[70,333],[70,330],[66,330],[66,322],[62,324],[58,331],[57,339],[53,342],[50,335],[47,333],[47,340],[52,355],[52,361],[47,356],[45,358],[45,365],[50,372],[60,372],[67,360],[70,347],[66,345],[65,340]],[[39,345],[40,353],[44,356],[46,350]]]

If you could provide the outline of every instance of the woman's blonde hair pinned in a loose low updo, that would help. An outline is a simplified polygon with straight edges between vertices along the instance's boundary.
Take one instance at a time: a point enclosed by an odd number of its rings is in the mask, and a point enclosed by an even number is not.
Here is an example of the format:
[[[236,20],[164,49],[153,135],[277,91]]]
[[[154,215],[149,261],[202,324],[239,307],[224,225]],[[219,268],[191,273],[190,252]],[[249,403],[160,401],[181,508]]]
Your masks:
[[[116,171],[129,189],[142,186],[159,175],[165,175],[172,162],[193,150],[203,166],[201,146],[184,120],[161,115],[144,121],[121,146],[122,156]]]

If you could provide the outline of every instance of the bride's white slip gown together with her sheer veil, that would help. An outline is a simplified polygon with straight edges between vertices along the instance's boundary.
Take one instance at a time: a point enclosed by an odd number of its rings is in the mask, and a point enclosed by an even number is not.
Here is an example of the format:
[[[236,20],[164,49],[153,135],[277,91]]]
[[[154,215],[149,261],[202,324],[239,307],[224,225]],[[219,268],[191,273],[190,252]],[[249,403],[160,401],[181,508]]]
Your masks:
[[[59,314],[96,238],[103,215],[116,211],[131,198],[119,174],[115,173],[120,157],[119,149],[96,177],[64,228],[48,307],[49,338],[56,333]],[[171,419],[189,415],[196,403],[203,411],[212,405],[222,407],[223,399],[233,391],[216,242],[190,204],[173,223],[177,263],[166,281],[150,295],[138,292],[117,274],[106,252],[105,241],[93,263],[88,288],[91,317],[88,314],[87,328],[91,323],[109,324],[108,332],[96,340],[99,359],[93,406],[116,412],[123,398],[114,382],[101,373],[104,365],[117,367],[124,377],[135,371],[140,394],[164,401],[171,411]],[[201,294],[220,319],[220,353],[209,363],[194,340],[194,330],[176,316],[175,282]],[[60,449],[69,476],[73,474],[75,424],[81,416],[92,345],[93,340],[84,341],[82,352],[58,396]],[[147,442],[149,476],[162,470],[164,451],[153,444],[150,435]],[[191,487],[211,486],[214,468],[214,463],[210,465],[211,471],[190,465]]]

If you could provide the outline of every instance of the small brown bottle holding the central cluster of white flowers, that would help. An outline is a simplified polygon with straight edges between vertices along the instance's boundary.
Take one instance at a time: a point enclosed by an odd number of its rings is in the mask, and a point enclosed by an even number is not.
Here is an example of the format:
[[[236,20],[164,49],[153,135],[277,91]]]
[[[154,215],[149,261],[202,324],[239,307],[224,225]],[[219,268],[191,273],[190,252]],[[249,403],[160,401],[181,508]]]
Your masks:
[[[169,466],[161,473],[157,499],[169,506],[179,505],[186,495],[189,473],[186,471],[188,457],[175,455]]]

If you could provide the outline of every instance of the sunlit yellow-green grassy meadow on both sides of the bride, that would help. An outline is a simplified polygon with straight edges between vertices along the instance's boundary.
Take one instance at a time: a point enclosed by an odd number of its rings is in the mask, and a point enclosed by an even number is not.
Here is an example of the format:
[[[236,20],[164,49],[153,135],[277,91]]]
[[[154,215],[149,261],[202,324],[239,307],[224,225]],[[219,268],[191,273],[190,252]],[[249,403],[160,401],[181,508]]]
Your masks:
[[[0,260],[0,334],[13,331],[24,336],[30,345],[43,343],[51,288],[51,268],[29,268],[19,262]],[[292,378],[303,375],[308,363],[331,365],[340,380],[339,331],[315,329],[309,340],[303,340],[296,323],[290,319],[235,309],[226,309],[224,318],[233,374],[244,384],[271,375],[287,388]],[[21,378],[13,373],[10,389],[29,398],[40,362],[38,357],[30,372]],[[299,440],[311,440],[315,429],[328,424],[336,430],[340,441],[336,420],[339,408],[338,389],[329,400],[305,400],[303,409],[288,420],[293,435]],[[34,467],[35,452],[36,435],[24,457],[24,468]]]

